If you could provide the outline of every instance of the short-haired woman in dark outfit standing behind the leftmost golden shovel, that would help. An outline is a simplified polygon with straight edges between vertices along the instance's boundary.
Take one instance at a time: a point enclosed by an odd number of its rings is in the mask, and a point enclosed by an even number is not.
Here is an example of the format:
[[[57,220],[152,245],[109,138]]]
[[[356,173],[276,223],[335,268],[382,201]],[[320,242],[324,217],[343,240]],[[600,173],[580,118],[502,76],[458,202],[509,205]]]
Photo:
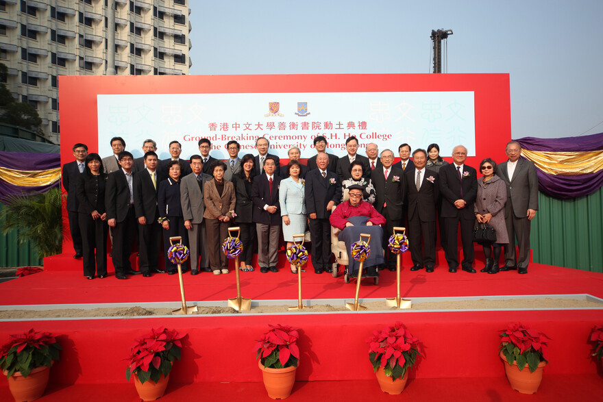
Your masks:
[[[169,177],[160,181],[157,190],[157,206],[159,208],[159,220],[163,227],[163,248],[165,258],[165,269],[168,275],[177,273],[177,265],[173,264],[167,257],[167,251],[171,247],[169,238],[182,237],[181,243],[188,244],[188,235],[184,227],[182,216],[182,205],[180,204],[180,173],[184,170],[182,162],[171,160],[167,164]],[[174,243],[175,244],[175,243]],[[184,267],[182,267],[184,271]]]

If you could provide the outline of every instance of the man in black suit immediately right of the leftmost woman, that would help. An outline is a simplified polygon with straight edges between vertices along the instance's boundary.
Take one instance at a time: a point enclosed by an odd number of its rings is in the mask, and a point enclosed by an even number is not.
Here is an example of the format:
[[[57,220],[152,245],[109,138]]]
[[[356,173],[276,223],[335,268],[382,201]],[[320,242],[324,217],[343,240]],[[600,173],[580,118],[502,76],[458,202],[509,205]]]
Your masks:
[[[136,231],[134,216],[134,179],[132,177],[132,153],[121,151],[121,168],[109,174],[105,191],[107,223],[113,228],[112,261],[117,279],[127,279],[125,274],[136,275],[140,271],[132,270],[130,252]]]

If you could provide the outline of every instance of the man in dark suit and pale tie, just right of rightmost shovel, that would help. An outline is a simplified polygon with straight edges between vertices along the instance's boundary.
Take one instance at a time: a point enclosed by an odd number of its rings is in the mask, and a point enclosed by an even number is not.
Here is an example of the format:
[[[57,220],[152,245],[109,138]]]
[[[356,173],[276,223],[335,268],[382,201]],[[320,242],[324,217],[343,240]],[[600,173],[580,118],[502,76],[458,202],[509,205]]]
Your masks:
[[[413,259],[410,271],[425,266],[428,273],[436,264],[436,201],[439,197],[438,174],[425,168],[427,151],[416,149],[413,168],[404,171],[404,199],[408,205],[408,248]],[[423,249],[421,250],[421,239]]]

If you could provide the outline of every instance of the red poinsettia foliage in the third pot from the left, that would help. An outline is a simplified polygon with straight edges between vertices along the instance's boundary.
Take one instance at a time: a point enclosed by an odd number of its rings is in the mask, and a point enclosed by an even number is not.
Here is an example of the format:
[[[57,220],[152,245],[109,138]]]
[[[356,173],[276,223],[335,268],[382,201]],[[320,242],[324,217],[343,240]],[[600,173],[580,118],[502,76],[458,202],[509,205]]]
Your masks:
[[[266,368],[297,367],[299,363],[299,328],[288,325],[268,325],[271,329],[254,347],[256,358]]]

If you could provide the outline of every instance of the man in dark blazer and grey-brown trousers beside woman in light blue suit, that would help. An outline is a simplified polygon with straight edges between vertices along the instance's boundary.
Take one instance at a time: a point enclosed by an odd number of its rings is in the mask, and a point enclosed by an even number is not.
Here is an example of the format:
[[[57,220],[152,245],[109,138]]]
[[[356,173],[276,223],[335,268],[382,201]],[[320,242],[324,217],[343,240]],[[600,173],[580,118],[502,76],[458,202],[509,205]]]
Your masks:
[[[258,232],[258,265],[261,273],[278,272],[278,240],[280,238],[280,203],[278,188],[281,178],[274,174],[276,162],[267,156],[264,172],[254,178],[251,201],[254,201],[254,222]]]

